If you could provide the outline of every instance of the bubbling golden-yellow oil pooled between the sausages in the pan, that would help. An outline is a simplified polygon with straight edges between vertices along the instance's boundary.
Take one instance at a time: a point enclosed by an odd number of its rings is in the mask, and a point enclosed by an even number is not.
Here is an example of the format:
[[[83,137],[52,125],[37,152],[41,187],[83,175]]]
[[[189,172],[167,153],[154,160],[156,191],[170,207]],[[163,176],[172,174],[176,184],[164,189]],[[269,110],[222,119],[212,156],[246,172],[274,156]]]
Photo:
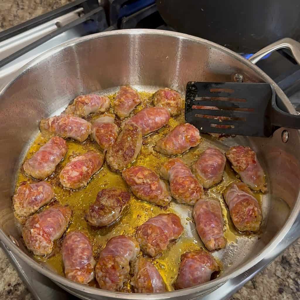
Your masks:
[[[144,107],[149,107],[151,104],[151,93],[140,92],[142,103],[134,110],[134,114],[143,109]],[[114,95],[109,96],[110,100],[114,98]],[[95,119],[94,116],[89,116],[89,121],[93,122]],[[168,132],[175,128],[178,124],[184,122],[183,114],[181,116],[171,118],[168,122],[168,125],[161,128],[158,133],[150,134],[143,140],[143,146],[138,155],[136,161],[133,165],[141,165],[148,167],[154,170],[156,173],[159,173],[160,167],[164,162],[166,162],[169,157],[159,154],[153,150],[153,146],[156,141],[164,137]],[[198,147],[190,149],[188,152],[180,155],[182,160],[191,165],[195,162],[199,155],[208,147],[212,146],[213,142],[210,138],[203,137],[202,142]],[[35,139],[34,143],[30,147],[28,153],[26,154],[25,159],[30,158],[42,145],[44,145],[49,140],[49,136],[38,134],[38,137]],[[95,201],[97,193],[99,190],[107,187],[121,187],[126,190],[129,190],[129,187],[122,179],[120,173],[112,172],[104,163],[101,170],[92,176],[87,187],[72,191],[64,189],[59,183],[58,175],[62,168],[66,165],[70,159],[76,155],[85,153],[89,150],[101,151],[97,143],[92,142],[91,140],[86,140],[84,143],[80,144],[73,140],[67,140],[68,152],[64,160],[58,165],[55,170],[55,173],[52,174],[49,178],[46,179],[47,182],[52,184],[55,190],[55,201],[58,201],[62,205],[68,205],[72,211],[73,216],[70,223],[70,226],[67,229],[68,231],[81,230],[85,232],[90,238],[93,245],[94,256],[97,259],[100,251],[104,248],[107,241],[116,235],[128,234],[134,236],[136,229],[150,217],[154,217],[157,214],[163,212],[176,212],[176,207],[178,204],[173,201],[165,208],[152,205],[148,202],[137,199],[133,194],[131,194],[131,200],[129,205],[124,209],[121,217],[115,223],[110,226],[97,228],[88,226],[85,221],[85,214],[88,210],[89,205]],[[32,179],[27,178],[22,170],[19,171],[16,188],[19,186],[20,182],[27,181],[32,182]],[[225,172],[223,174],[223,181],[210,189],[206,190],[205,193],[207,196],[216,198],[220,201],[221,207],[223,210],[223,217],[225,221],[225,237],[228,243],[234,243],[237,236],[241,235],[238,233],[230,219],[229,211],[226,208],[224,203],[222,192],[223,190],[232,182],[237,181],[237,177],[232,169],[226,164]],[[261,201],[261,194],[255,194],[258,201]],[[186,205],[184,205],[186,206]],[[188,210],[192,210],[191,207],[186,206]],[[178,212],[176,212],[178,214]],[[181,216],[182,217],[182,216]],[[190,217],[184,219],[183,225],[188,226],[189,223],[192,223]],[[184,227],[185,227],[184,226]],[[194,227],[194,225],[192,224]],[[55,247],[51,256],[41,257],[35,256],[35,259],[38,261],[46,262],[46,264],[54,269],[56,272],[64,276],[63,272],[63,263],[60,253],[61,241],[55,243]],[[199,237],[194,238],[183,233],[183,235],[177,240],[169,244],[167,251],[165,251],[160,256],[152,259],[154,265],[158,268],[161,276],[163,277],[167,290],[173,290],[173,283],[176,279],[179,270],[180,256],[187,251],[198,250],[203,247],[203,244]],[[97,286],[97,283],[92,281],[89,285]],[[130,292],[129,281],[125,283],[123,291]]]

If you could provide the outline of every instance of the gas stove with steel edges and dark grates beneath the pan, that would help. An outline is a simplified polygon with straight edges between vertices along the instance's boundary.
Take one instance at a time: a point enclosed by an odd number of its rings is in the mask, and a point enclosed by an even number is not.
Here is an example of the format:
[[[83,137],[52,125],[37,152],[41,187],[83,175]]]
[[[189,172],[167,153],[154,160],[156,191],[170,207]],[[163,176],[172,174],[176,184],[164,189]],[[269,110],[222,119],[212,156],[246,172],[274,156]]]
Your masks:
[[[173,30],[161,18],[154,0],[105,0],[101,6],[98,0],[77,0],[0,32],[0,85],[5,85],[24,64],[61,43],[96,32],[131,28]],[[241,54],[246,58],[251,55]],[[278,50],[257,65],[277,82],[300,111],[300,67],[292,55]],[[199,300],[228,299],[300,237],[299,226],[300,215],[268,257]],[[1,241],[0,246],[37,300],[78,299],[18,259]]]

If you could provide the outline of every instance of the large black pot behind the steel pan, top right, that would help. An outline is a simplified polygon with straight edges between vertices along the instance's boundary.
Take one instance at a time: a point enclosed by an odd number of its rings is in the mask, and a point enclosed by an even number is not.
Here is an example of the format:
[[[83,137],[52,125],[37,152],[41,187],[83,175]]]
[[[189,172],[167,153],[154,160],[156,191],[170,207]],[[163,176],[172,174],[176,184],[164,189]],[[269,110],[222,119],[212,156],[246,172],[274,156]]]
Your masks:
[[[299,0],[156,0],[165,22],[179,32],[254,53],[281,38],[300,40]]]

